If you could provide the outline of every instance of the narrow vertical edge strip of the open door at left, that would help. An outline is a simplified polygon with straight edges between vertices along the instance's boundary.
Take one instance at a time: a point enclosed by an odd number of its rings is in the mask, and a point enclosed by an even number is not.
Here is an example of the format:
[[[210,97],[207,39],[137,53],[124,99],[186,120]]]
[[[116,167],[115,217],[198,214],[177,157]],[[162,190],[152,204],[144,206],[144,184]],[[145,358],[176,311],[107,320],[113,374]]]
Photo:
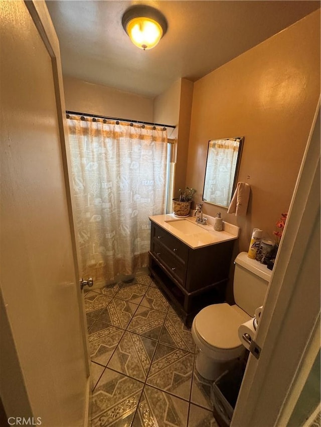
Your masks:
[[[74,215],[73,215],[73,192],[72,188],[72,180],[69,174],[71,170],[71,161],[70,161],[70,152],[68,145],[68,127],[67,127],[67,119],[66,119],[66,107],[65,107],[65,95],[64,95],[64,86],[63,86],[63,77],[62,77],[62,66],[60,59],[60,48],[59,41],[56,35],[55,28],[51,21],[47,6],[44,1],[39,0],[24,0],[24,3],[34,21],[34,24],[39,32],[40,37],[42,38],[48,54],[52,60],[52,70],[53,70],[53,80],[55,87],[55,94],[57,99],[57,118],[58,118],[58,126],[59,126],[59,134],[61,141],[61,154],[63,161],[63,169],[64,169],[64,180],[65,180],[65,188],[66,188],[66,198],[68,205],[68,216],[69,216],[69,225],[70,225],[70,237],[72,242],[73,249],[73,261],[74,261],[74,269],[75,269],[75,280],[77,286],[77,299],[79,305],[79,322],[82,331],[82,340],[84,346],[84,357],[86,364],[86,373],[87,377],[90,376],[89,369],[89,348],[88,348],[88,332],[87,325],[85,320],[85,310],[84,310],[84,299],[83,292],[80,289],[79,284],[79,268],[78,268],[78,245],[76,240],[76,232],[75,232],[75,223],[74,223]],[[90,381],[88,381],[90,382]],[[88,385],[88,388],[90,384]],[[88,391],[89,392],[89,391]]]

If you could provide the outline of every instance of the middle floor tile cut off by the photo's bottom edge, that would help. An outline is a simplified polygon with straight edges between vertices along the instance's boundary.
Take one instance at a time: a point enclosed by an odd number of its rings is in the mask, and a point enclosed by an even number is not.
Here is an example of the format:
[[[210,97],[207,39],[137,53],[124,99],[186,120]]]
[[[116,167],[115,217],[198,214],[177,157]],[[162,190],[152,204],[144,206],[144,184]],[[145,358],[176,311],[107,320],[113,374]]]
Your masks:
[[[188,409],[185,400],[145,385],[132,427],[185,427]]]

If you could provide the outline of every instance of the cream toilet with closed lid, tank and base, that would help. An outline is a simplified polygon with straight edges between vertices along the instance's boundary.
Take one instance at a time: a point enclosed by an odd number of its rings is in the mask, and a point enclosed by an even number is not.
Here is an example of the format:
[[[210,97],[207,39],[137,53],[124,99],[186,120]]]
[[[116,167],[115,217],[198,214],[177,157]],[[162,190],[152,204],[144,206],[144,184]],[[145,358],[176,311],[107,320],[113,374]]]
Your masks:
[[[213,304],[194,318],[192,336],[198,354],[196,369],[206,379],[214,380],[244,355],[245,347],[238,337],[242,323],[254,317],[263,305],[272,271],[241,252],[235,259],[233,292],[235,304]]]

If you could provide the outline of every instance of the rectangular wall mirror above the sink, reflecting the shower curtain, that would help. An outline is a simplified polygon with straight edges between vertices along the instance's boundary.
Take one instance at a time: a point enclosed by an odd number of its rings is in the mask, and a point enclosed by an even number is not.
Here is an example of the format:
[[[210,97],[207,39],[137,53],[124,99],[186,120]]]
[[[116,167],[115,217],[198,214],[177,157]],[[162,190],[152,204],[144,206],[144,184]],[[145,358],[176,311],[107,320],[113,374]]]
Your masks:
[[[203,201],[229,207],[236,183],[244,137],[209,141]]]

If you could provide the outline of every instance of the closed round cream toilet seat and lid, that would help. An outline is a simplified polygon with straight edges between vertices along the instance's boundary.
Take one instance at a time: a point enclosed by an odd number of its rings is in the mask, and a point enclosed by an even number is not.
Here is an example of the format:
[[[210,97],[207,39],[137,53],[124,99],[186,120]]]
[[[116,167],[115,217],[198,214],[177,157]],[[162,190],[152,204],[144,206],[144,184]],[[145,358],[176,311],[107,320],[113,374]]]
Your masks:
[[[197,346],[219,360],[239,357],[244,347],[238,337],[239,326],[251,317],[237,305],[213,304],[194,318],[192,334]]]

